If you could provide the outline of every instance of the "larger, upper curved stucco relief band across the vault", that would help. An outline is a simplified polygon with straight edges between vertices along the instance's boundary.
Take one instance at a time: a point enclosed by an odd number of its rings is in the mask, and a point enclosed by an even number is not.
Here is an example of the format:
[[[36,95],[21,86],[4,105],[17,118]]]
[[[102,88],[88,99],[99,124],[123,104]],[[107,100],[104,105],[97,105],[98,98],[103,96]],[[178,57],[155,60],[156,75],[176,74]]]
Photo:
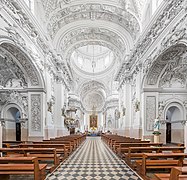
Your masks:
[[[136,39],[140,32],[140,26],[136,18],[124,9],[106,4],[78,4],[61,9],[54,14],[47,26],[51,38],[59,29],[66,24],[78,20],[105,20],[122,26],[127,29],[133,39]]]

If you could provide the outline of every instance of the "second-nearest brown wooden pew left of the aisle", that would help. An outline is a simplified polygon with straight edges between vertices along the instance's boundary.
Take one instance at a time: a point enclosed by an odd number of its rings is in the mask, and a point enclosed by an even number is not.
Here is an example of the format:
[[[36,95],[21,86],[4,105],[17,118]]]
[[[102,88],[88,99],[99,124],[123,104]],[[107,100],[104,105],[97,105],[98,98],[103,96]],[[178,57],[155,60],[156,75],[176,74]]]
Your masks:
[[[60,155],[55,148],[0,148],[0,152],[8,157],[37,157],[39,161],[50,161],[46,168],[50,172],[60,164]]]

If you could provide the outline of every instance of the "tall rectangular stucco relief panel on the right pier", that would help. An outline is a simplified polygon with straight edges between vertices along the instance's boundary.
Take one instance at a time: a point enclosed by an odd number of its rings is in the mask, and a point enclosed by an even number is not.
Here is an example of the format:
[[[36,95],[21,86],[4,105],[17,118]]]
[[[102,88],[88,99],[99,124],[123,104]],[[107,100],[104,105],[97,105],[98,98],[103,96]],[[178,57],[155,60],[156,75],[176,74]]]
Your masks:
[[[154,119],[156,118],[156,97],[146,97],[146,130],[153,131]]]

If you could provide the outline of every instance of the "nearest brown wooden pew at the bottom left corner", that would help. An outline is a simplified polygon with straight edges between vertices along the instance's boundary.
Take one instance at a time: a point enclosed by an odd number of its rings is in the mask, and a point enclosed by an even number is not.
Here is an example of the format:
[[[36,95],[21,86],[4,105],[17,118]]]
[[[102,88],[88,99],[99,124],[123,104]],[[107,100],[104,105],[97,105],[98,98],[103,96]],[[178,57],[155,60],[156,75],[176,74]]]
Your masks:
[[[46,166],[39,164],[36,157],[0,157],[0,179],[9,175],[34,175],[34,180],[44,180]]]

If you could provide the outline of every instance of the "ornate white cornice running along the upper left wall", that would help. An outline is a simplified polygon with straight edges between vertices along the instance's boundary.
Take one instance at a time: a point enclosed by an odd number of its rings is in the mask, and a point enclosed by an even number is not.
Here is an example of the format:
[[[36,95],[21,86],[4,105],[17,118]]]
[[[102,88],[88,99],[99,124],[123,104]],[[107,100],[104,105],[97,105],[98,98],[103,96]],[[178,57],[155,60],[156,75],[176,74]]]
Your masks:
[[[48,56],[49,52],[52,54],[53,60],[51,61],[52,64],[49,66],[59,67],[63,72],[69,74],[68,77],[71,77],[68,67],[65,64],[61,65],[63,60],[56,55],[56,52],[54,52],[53,49],[50,48],[49,43],[46,40],[47,37],[44,36],[45,33],[41,31],[41,27],[35,23],[35,19],[32,17],[32,15],[28,14],[28,12],[25,10],[25,7],[23,6],[24,2],[16,0],[2,0],[1,2],[3,6],[3,13],[6,12],[14,20],[15,24],[18,26],[17,30],[19,29],[19,31],[24,32],[24,35],[26,35],[25,37],[27,37],[34,46],[36,46],[36,49],[43,54],[44,58]],[[0,17],[4,19],[2,15],[0,15]],[[4,21],[9,25],[9,27],[12,26],[5,19]],[[17,33],[17,35],[19,34]],[[28,47],[25,47],[25,49],[29,50]],[[32,51],[29,50],[28,53],[30,54],[31,52]],[[39,58],[38,60],[40,61]],[[41,65],[41,69],[43,69],[42,66],[43,65]],[[71,78],[69,81],[71,81]]]

